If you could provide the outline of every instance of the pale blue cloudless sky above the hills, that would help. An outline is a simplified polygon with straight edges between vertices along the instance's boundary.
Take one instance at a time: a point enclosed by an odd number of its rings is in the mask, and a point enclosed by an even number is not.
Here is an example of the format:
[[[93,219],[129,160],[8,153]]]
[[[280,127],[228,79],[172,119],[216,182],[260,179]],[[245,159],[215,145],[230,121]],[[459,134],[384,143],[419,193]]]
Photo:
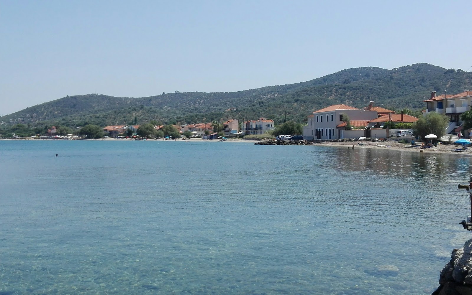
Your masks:
[[[415,63],[470,71],[469,0],[0,0],[0,115]],[[464,87],[472,85],[464,85]]]

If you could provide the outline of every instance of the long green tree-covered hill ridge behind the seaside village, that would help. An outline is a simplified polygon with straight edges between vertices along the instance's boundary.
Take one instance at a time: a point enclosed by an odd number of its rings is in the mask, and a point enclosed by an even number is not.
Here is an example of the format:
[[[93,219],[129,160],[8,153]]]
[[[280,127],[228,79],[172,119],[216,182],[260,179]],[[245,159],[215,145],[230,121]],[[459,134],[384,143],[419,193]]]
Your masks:
[[[352,68],[318,79],[237,92],[177,92],[146,98],[107,95],[67,96],[0,117],[0,122],[57,123],[67,126],[126,124],[137,117],[164,123],[256,119],[302,121],[313,110],[345,103],[365,107],[369,101],[390,109],[421,109],[431,91],[458,93],[472,88],[472,73],[430,64],[392,70]],[[226,111],[234,107],[236,111]]]

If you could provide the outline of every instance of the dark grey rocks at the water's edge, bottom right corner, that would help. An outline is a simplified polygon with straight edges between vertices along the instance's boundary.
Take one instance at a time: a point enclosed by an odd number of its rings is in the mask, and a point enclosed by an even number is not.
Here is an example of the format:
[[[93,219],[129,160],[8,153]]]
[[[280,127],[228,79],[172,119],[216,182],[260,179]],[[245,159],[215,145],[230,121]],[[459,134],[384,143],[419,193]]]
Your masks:
[[[432,295],[472,295],[472,239],[452,251],[439,276],[439,286]]]

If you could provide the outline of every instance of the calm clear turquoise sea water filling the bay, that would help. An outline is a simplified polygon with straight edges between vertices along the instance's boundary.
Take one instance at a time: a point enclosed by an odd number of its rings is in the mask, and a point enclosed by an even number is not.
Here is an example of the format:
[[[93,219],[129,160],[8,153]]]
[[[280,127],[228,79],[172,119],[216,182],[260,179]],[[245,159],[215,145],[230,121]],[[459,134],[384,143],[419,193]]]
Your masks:
[[[58,157],[55,154],[59,154]],[[430,294],[471,158],[0,141],[0,294]]]

